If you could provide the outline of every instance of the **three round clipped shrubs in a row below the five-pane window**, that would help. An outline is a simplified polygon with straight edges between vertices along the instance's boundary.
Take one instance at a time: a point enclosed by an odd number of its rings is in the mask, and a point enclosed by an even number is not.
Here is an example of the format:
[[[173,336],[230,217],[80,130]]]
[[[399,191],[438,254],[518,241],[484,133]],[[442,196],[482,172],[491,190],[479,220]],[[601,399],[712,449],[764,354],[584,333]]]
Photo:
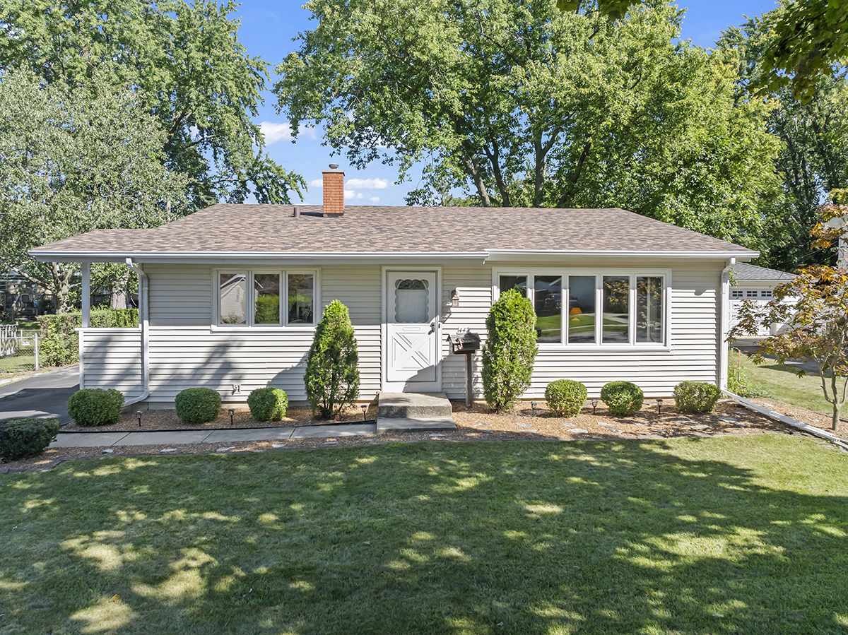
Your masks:
[[[580,382],[560,379],[550,382],[544,390],[551,414],[572,417],[580,414],[586,403],[588,391]],[[685,413],[704,414],[716,407],[722,391],[706,382],[680,382],[674,387],[674,404]],[[600,389],[600,400],[606,404],[611,415],[635,415],[642,409],[644,393],[631,382],[609,382]]]

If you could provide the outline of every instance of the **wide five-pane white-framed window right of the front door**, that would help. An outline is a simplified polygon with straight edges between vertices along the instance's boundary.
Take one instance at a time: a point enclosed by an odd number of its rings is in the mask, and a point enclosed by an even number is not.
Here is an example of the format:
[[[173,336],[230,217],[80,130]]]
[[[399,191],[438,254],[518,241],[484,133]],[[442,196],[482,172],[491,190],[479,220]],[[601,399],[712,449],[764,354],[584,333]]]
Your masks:
[[[664,274],[497,271],[496,292],[533,304],[539,345],[631,346],[667,342]]]

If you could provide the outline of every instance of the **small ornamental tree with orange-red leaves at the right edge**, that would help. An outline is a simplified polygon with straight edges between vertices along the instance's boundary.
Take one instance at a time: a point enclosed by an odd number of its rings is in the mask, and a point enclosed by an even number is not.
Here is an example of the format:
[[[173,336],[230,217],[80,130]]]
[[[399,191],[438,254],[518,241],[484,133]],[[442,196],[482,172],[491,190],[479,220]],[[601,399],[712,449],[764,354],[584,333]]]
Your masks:
[[[848,237],[848,226],[838,222],[848,215],[848,205],[824,206],[821,214],[822,221],[810,232],[813,247],[828,248],[840,237]],[[766,353],[780,364],[788,359],[814,361],[824,398],[833,406],[833,429],[838,432],[848,390],[848,267],[805,267],[796,272],[795,280],[774,287],[771,302],[757,306],[745,300],[728,340],[756,335],[759,327],[775,323],[786,326],[762,340],[751,360],[762,364]],[[787,367],[799,376],[806,375],[795,365]]]

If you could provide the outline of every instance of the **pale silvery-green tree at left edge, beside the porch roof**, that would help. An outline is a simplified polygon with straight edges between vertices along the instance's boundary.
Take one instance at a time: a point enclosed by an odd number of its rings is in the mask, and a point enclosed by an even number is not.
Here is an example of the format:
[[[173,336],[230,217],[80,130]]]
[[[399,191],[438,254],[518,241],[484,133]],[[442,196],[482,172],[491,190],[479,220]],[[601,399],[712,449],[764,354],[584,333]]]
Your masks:
[[[165,131],[141,100],[100,73],[73,88],[29,71],[0,77],[0,266],[51,292],[59,312],[70,309],[79,267],[38,263],[28,249],[161,225],[186,207],[186,177],[163,165]],[[104,273],[126,282],[114,267]]]

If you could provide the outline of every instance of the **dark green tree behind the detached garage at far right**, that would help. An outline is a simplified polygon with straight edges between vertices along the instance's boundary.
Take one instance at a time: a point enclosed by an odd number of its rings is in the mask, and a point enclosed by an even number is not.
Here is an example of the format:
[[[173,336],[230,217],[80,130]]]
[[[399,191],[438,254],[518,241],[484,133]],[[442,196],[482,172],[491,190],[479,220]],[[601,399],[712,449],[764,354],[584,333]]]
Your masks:
[[[767,51],[775,25],[784,19],[777,8],[722,33],[722,51],[739,53],[739,97],[754,99],[767,68]],[[767,94],[774,107],[767,128],[781,142],[775,161],[784,196],[768,218],[765,263],[778,269],[824,264],[833,254],[814,248],[811,231],[818,222],[818,206],[834,189],[848,182],[848,81],[844,70],[819,77],[809,99],[801,101],[789,85]]]

